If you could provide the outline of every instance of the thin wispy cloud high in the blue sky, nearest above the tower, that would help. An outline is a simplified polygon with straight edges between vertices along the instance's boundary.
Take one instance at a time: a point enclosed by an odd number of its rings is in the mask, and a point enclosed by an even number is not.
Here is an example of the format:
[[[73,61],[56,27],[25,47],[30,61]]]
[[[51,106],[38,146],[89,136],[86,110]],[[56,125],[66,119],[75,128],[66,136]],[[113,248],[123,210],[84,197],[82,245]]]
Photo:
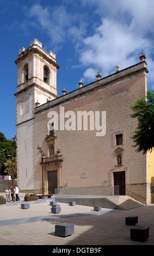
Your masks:
[[[86,24],[82,22],[82,19],[78,21],[77,13],[69,13],[63,5],[50,10],[40,4],[34,4],[29,9],[29,17],[38,19],[41,28],[51,38],[53,50],[63,47],[63,43],[68,40],[67,36],[69,36],[69,40],[78,45],[78,41],[82,39],[86,31]]]

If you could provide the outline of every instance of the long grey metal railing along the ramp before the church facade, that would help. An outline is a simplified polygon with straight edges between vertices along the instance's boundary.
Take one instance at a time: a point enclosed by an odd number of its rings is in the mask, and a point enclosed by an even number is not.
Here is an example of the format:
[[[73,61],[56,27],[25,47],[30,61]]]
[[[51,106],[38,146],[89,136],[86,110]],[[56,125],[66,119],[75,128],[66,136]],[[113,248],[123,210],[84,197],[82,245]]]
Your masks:
[[[55,197],[60,203],[75,201],[79,205],[118,209],[119,186],[56,188]]]

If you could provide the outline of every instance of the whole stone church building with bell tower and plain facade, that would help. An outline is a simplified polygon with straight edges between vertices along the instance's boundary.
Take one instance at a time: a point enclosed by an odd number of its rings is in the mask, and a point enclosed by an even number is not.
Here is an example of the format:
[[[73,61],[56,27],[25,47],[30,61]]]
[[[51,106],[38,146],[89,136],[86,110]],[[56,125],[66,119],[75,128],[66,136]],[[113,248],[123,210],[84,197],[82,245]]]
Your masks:
[[[137,119],[131,118],[130,106],[147,90],[144,54],[137,64],[123,70],[118,65],[106,77],[98,72],[90,84],[83,86],[79,81],[78,89],[72,92],[67,93],[64,88],[62,96],[57,95],[56,54],[45,51],[37,39],[30,42],[27,50],[19,50],[15,63],[20,192],[42,192],[43,161],[46,194],[54,193],[54,188],[119,185],[120,195],[129,195],[144,204],[154,202],[154,154],[137,153],[131,139]],[[49,125],[51,111],[57,112],[59,118],[72,112],[76,118],[81,112],[106,113],[102,120],[106,125],[104,134],[97,136],[96,127],[66,130],[61,125],[63,129],[56,129],[54,121]],[[69,115],[63,117],[68,118]]]

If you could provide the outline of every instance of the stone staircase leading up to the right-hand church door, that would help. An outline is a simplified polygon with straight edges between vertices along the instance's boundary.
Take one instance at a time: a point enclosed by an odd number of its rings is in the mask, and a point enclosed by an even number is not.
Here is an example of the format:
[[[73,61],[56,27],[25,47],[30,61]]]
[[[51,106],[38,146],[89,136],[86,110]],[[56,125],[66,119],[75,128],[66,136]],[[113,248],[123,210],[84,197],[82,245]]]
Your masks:
[[[137,208],[143,206],[143,203],[138,202],[129,196],[119,196],[118,209],[119,210],[130,210],[133,208]]]

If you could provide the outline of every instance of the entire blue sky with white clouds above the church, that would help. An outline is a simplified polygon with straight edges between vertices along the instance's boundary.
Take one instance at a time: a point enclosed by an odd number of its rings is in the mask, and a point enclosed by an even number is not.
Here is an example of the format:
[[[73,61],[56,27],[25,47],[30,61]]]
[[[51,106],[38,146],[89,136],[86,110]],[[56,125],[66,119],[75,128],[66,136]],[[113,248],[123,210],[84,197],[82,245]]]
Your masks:
[[[17,59],[34,38],[57,55],[58,95],[63,87],[85,84],[140,61],[146,55],[148,88],[154,88],[153,0],[0,0],[1,123],[5,137],[15,135]]]

